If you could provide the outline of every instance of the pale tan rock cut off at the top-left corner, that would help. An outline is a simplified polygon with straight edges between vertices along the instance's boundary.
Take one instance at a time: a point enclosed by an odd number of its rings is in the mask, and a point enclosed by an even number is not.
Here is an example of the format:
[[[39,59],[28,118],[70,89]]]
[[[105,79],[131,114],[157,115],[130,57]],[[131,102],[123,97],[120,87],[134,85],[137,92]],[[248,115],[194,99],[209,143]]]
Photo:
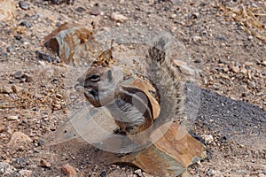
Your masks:
[[[15,18],[16,5],[12,0],[0,0],[0,21]]]

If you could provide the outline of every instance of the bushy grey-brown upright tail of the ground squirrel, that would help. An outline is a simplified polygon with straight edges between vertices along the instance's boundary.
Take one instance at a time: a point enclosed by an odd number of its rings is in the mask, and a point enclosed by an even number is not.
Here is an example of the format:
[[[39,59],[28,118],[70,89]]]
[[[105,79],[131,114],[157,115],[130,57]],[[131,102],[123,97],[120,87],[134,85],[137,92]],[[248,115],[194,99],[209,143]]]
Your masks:
[[[184,113],[184,84],[177,69],[171,65],[166,50],[171,44],[168,35],[161,35],[149,49],[147,74],[160,95],[160,114],[153,124],[158,128],[168,121],[176,120]]]

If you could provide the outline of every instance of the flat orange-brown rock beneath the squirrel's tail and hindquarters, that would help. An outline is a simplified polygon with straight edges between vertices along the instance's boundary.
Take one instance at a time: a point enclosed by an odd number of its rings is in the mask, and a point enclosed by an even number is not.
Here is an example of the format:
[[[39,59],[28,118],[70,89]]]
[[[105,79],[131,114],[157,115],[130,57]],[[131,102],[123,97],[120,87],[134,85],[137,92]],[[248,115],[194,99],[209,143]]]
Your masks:
[[[163,132],[160,128],[152,136],[156,138],[160,135]],[[178,176],[184,173],[189,165],[207,157],[206,147],[177,123],[172,123],[158,142],[144,150],[132,152],[121,158],[106,151],[98,153],[102,153],[99,154],[100,157],[106,157],[103,163],[132,164],[145,173],[156,176]]]

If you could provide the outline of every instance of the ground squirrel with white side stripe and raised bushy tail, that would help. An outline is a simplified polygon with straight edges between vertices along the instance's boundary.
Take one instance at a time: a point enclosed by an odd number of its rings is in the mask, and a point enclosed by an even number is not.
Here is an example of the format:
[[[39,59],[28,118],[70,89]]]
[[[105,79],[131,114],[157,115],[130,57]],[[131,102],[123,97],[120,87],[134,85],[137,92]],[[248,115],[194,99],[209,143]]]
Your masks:
[[[147,128],[153,131],[184,113],[184,86],[170,59],[166,58],[169,42],[168,36],[160,36],[149,48],[146,58],[146,77],[160,97],[157,118],[154,118],[153,106],[143,90],[123,86],[117,81],[115,67],[90,66],[85,78],[78,80],[90,104],[105,106],[126,135],[137,135]],[[146,135],[151,135],[151,131]],[[145,143],[147,138],[141,135],[134,142]]]

